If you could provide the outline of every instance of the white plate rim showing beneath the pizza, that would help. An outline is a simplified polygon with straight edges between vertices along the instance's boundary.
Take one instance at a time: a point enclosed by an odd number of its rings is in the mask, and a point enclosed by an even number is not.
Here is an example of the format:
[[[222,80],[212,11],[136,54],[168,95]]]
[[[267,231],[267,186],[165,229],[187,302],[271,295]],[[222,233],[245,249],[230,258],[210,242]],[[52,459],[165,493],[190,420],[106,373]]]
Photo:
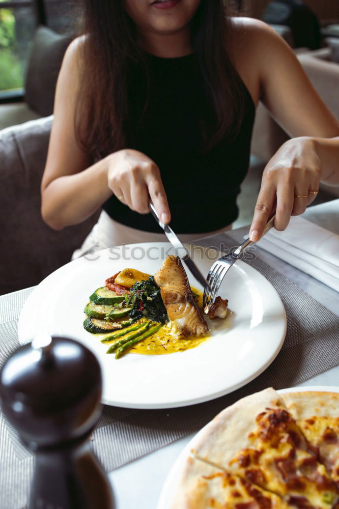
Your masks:
[[[339,392],[339,387],[321,385],[321,386],[308,386],[308,387],[289,387],[288,389],[277,390],[279,394],[286,394],[287,392]],[[190,451],[195,447],[195,444],[200,441],[201,436],[205,433],[206,429],[211,425],[208,422],[196,435],[185,445],[184,449],[174,462],[170,472],[166,477],[162,487],[160,497],[156,509],[173,509],[173,503],[176,496],[176,490],[180,483],[181,473],[185,466],[186,459],[190,456]]]

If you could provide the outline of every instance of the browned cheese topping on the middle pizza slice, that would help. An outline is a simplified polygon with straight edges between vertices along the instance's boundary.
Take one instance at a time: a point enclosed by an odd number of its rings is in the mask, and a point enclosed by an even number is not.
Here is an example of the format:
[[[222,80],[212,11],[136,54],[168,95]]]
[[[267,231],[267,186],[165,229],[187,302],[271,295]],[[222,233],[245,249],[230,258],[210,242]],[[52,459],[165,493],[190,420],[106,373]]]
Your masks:
[[[238,451],[230,466],[250,482],[303,509],[329,509],[338,498],[324,465],[308,448],[295,420],[284,409],[266,409],[248,435],[250,447]]]

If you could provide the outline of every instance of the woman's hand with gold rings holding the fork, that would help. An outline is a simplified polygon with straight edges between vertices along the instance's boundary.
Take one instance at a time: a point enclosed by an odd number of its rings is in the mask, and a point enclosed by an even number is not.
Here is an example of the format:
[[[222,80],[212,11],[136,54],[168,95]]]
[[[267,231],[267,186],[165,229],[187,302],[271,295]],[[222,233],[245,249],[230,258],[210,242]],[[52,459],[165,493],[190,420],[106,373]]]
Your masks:
[[[290,217],[302,214],[319,190],[321,161],[310,137],[289,139],[267,163],[253,215],[250,239],[263,234],[268,218],[274,213],[274,228],[285,230]]]

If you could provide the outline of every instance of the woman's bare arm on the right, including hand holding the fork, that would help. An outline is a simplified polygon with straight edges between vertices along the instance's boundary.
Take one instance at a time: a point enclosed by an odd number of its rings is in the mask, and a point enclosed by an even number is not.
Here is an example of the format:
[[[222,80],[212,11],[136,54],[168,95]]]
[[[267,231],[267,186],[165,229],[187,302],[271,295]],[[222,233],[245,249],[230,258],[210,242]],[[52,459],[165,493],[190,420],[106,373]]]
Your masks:
[[[261,100],[292,137],[265,167],[250,228],[263,232],[276,207],[275,228],[284,230],[291,215],[302,214],[320,181],[339,184],[339,122],[309,82],[292,49],[265,23],[245,19],[250,75],[260,82]],[[296,197],[296,195],[308,198]]]

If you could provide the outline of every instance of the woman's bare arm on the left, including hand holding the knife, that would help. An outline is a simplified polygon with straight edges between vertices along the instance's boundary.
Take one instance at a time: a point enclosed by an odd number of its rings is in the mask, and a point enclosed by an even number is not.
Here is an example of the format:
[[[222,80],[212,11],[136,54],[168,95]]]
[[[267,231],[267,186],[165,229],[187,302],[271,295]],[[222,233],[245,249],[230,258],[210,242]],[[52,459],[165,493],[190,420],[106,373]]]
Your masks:
[[[150,195],[159,215],[168,222],[171,215],[159,168],[151,159],[134,150],[121,150],[91,165],[89,155],[77,143],[74,110],[81,44],[83,39],[76,39],[67,49],[56,85],[54,120],[41,183],[42,217],[51,228],[61,230],[87,219],[115,193],[140,213],[149,211]]]

